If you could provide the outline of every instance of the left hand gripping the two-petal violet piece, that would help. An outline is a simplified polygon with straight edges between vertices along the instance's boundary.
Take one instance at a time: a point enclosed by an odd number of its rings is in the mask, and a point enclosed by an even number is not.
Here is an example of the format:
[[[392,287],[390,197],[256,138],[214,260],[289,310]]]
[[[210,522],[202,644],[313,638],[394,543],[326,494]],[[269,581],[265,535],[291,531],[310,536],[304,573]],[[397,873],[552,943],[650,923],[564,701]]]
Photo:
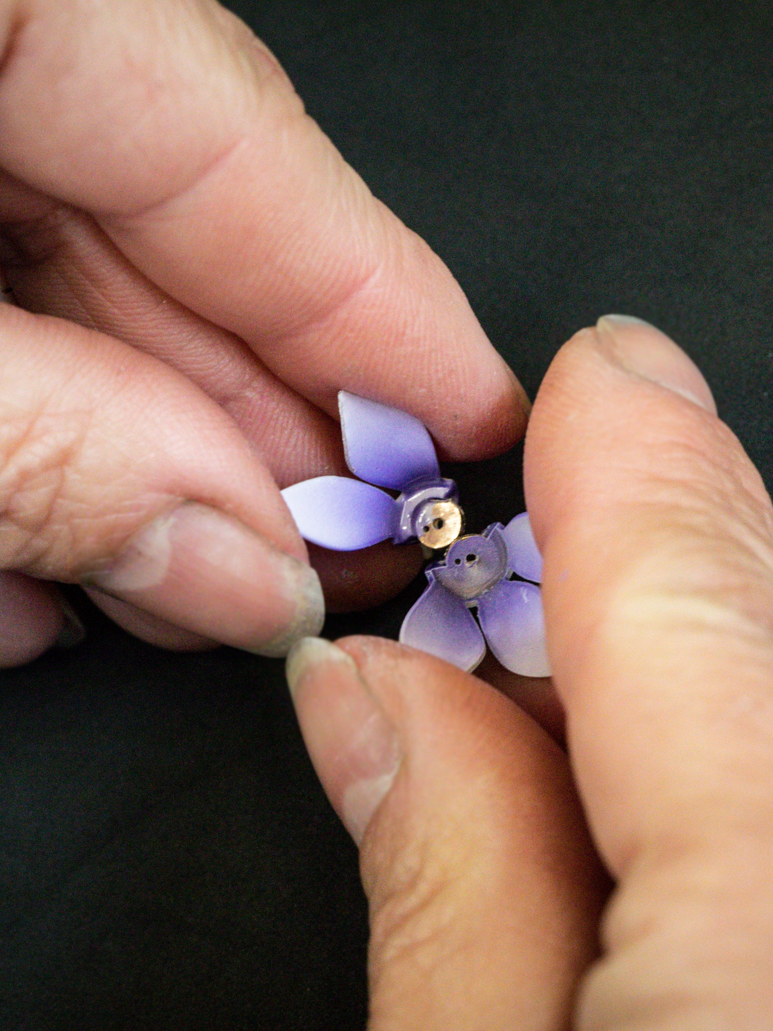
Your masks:
[[[156,643],[283,655],[323,598],[279,489],[345,474],[337,391],[453,459],[509,447],[523,391],[224,8],[5,0],[0,40],[0,666],[60,632],[45,580]],[[338,608],[422,563],[310,551]]]

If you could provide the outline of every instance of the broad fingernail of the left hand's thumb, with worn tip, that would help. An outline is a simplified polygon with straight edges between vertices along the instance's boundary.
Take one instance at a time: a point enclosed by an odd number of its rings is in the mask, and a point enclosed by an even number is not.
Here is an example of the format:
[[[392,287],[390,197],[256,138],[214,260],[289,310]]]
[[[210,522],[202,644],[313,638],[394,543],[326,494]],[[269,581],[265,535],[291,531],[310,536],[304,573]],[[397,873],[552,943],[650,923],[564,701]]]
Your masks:
[[[193,633],[280,658],[325,620],[320,579],[224,512],[186,502],[129,541],[91,587]]]

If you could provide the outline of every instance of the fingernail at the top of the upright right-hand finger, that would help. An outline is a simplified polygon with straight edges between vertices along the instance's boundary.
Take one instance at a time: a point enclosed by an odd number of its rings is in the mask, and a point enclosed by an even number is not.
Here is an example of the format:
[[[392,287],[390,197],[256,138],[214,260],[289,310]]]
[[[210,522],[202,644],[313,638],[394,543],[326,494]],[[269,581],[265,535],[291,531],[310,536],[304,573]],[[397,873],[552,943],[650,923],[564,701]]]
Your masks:
[[[608,360],[716,414],[714,398],[698,366],[665,333],[633,315],[602,315],[596,328]]]

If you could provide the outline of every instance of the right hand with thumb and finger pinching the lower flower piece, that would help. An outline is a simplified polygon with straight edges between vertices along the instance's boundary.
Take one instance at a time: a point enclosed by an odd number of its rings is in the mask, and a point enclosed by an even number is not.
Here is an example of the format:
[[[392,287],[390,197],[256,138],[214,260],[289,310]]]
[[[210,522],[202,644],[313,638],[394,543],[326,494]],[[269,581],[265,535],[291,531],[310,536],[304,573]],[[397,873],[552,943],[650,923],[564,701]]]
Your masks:
[[[769,1028],[770,498],[693,363],[630,320],[559,353],[525,473],[570,759],[502,693],[392,642],[288,660],[361,843],[369,1029]],[[544,686],[533,707],[554,726]],[[582,816],[616,883],[600,923]]]

